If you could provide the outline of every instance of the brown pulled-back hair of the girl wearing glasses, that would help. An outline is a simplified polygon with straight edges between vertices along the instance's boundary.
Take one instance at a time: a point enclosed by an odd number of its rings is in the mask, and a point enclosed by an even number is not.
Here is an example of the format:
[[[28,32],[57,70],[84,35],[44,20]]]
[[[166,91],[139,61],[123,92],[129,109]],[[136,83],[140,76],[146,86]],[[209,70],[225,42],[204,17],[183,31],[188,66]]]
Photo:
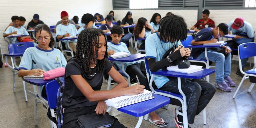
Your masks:
[[[50,43],[49,43],[49,47],[53,47],[54,45],[54,39],[53,39],[53,36],[52,36],[52,33],[50,31],[50,28],[46,25],[46,24],[38,24],[36,27],[35,27],[35,35],[37,32],[39,32],[39,35],[41,35],[41,31],[44,30],[46,32],[48,32],[50,34]],[[37,37],[36,37],[37,38]],[[37,43],[37,42],[36,42]],[[38,44],[38,43],[37,43]]]

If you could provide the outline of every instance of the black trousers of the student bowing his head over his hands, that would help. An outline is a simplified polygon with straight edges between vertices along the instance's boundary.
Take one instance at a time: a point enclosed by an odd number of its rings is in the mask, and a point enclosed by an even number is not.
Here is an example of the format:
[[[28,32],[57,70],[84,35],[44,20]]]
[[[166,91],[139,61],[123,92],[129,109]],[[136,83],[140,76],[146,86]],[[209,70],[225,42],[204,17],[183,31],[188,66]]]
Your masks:
[[[179,94],[177,79],[165,83],[159,90],[174,92]],[[215,94],[216,88],[211,83],[202,79],[184,80],[182,91],[187,99],[188,123],[193,124],[195,116],[198,115],[210,102]],[[181,106],[177,99],[171,99],[171,104]]]

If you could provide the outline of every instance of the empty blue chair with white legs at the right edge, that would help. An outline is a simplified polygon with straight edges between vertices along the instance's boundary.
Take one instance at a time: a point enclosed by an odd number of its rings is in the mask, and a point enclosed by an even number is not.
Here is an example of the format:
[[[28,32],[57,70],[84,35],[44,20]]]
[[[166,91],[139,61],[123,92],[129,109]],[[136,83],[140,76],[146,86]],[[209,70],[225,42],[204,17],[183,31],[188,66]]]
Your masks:
[[[233,98],[235,98],[235,96],[236,96],[238,90],[240,89],[241,85],[243,84],[244,80],[250,78],[250,81],[253,82],[252,79],[255,79],[255,77],[256,77],[256,67],[255,67],[255,65],[254,65],[253,69],[244,72],[242,70],[242,61],[241,61],[241,59],[248,58],[248,57],[253,57],[254,64],[256,64],[255,49],[256,49],[256,43],[254,43],[254,42],[252,42],[252,43],[243,43],[243,44],[240,44],[238,46],[239,68],[240,68],[240,72],[244,74],[244,77],[241,80]],[[251,84],[251,86],[248,90],[249,93],[252,91],[252,88],[253,88],[254,85],[255,85],[255,83]]]

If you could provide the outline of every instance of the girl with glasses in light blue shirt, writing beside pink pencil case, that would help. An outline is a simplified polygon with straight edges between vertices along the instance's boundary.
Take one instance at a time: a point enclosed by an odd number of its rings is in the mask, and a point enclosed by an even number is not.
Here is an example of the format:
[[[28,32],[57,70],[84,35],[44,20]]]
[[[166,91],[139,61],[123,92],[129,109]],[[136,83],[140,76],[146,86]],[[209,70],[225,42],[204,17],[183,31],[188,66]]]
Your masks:
[[[59,49],[53,48],[54,39],[50,28],[46,24],[39,24],[35,27],[37,46],[27,48],[24,52],[18,67],[18,76],[27,75],[39,76],[44,72],[65,67],[67,61]],[[37,66],[32,63],[34,60]],[[39,69],[40,68],[40,69]],[[45,86],[40,86],[42,95],[46,97]]]

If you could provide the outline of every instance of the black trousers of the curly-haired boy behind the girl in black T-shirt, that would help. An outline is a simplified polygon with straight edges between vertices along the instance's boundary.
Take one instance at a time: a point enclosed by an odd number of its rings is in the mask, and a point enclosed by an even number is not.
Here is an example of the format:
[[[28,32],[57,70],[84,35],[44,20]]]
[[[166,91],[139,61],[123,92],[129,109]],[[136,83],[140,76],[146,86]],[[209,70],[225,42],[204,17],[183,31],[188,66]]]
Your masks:
[[[145,89],[150,91],[150,88],[148,85],[148,80],[145,77],[146,76],[146,68],[145,68],[144,61],[142,61],[141,63],[135,63],[135,64],[127,66],[125,72],[135,80],[137,80],[137,78],[136,78],[136,75],[137,75],[138,79],[140,81],[140,84],[144,85]]]

